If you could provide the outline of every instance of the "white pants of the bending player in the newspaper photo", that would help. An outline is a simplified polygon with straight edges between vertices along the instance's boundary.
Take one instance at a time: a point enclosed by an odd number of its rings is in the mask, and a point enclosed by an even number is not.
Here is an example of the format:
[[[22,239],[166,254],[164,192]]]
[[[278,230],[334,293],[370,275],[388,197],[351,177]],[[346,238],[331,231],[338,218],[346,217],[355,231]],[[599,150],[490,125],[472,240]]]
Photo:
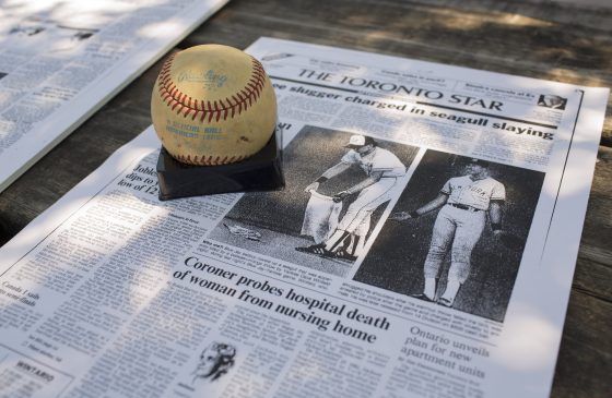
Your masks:
[[[391,200],[397,185],[397,178],[382,177],[378,182],[364,189],[357,198],[351,203],[338,229],[353,233],[357,227],[368,218],[382,203]]]

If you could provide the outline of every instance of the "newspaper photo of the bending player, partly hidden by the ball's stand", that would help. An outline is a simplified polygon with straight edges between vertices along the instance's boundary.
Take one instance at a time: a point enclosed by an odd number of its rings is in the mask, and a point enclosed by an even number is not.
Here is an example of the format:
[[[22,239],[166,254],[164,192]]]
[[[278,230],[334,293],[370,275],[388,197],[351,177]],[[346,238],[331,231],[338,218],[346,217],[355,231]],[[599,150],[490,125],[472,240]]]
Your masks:
[[[305,126],[284,149],[286,186],[245,194],[209,238],[336,276],[363,257],[417,147]]]

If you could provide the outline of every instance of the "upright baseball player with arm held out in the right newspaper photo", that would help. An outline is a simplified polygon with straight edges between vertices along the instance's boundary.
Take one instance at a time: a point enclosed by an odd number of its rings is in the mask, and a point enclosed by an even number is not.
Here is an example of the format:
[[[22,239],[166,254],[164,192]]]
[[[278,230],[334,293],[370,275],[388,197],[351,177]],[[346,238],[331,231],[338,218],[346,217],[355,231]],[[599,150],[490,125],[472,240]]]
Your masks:
[[[466,176],[449,179],[433,201],[412,212],[399,212],[390,217],[407,220],[440,209],[423,266],[423,292],[413,297],[436,301],[449,307],[470,275],[472,250],[483,233],[487,215],[493,234],[502,233],[503,206],[506,200],[505,186],[490,177],[487,161],[470,159],[466,172]],[[446,289],[436,300],[439,270],[449,249],[450,267]]]

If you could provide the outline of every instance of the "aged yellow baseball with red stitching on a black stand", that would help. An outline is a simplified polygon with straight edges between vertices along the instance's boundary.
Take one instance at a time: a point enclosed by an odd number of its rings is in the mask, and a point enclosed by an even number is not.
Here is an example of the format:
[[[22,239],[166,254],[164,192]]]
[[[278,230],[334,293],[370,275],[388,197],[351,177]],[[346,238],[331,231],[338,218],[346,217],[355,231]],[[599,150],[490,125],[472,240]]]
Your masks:
[[[188,48],[164,63],[151,117],[178,161],[213,166],[259,152],[276,123],[276,98],[261,63],[227,46]]]

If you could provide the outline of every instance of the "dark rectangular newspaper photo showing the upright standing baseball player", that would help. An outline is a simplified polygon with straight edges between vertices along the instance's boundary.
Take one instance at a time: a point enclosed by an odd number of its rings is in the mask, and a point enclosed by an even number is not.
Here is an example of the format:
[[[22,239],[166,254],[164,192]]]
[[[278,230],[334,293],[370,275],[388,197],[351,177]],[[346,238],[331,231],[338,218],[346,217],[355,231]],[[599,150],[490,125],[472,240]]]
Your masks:
[[[503,322],[543,181],[427,150],[353,279]]]

